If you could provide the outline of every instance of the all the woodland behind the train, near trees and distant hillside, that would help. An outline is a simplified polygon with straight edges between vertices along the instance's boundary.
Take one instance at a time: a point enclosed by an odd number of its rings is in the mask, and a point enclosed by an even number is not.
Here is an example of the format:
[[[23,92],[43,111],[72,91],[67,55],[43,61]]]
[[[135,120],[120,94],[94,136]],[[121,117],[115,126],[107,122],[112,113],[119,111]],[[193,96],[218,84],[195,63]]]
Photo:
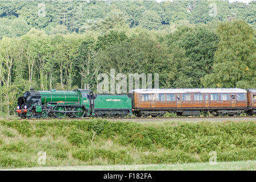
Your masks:
[[[159,73],[160,88],[256,88],[256,3],[210,16],[213,2],[1,1],[0,115],[29,88],[96,92],[111,68]]]

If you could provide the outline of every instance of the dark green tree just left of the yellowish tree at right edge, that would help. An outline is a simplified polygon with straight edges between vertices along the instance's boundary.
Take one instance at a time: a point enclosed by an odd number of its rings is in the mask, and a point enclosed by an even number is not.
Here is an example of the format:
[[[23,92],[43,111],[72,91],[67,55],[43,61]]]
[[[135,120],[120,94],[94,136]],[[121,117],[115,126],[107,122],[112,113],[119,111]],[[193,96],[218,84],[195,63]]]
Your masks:
[[[200,78],[211,72],[217,44],[218,37],[215,32],[205,26],[179,27],[177,31],[167,35],[167,45],[169,47],[177,45],[185,51],[188,61],[185,65],[191,68],[187,69],[190,72],[187,72],[186,77],[191,78],[190,86],[193,88],[202,87]],[[184,65],[182,67],[184,68]]]

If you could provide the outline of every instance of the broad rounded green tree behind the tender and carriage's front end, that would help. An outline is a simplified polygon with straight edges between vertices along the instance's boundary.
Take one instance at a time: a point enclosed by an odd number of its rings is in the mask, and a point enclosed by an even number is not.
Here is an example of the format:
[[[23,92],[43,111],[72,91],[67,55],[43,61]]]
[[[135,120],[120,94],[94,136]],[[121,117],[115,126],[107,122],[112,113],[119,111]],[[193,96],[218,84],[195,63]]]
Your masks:
[[[148,73],[159,74],[159,86],[165,88],[173,81],[173,59],[169,50],[146,32],[130,35],[126,41],[113,42],[99,50],[95,61],[101,65],[100,73]],[[154,82],[154,77],[153,77]],[[154,86],[154,85],[153,85]]]

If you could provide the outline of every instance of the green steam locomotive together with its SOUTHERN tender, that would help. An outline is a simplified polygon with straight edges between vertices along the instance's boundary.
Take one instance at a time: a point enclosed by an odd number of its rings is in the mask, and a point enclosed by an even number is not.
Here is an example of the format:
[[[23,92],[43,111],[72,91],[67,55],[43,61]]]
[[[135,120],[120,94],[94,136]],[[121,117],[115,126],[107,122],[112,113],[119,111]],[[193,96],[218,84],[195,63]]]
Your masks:
[[[30,91],[18,98],[21,118],[126,117],[133,112],[131,98],[123,94],[95,94],[89,89]]]

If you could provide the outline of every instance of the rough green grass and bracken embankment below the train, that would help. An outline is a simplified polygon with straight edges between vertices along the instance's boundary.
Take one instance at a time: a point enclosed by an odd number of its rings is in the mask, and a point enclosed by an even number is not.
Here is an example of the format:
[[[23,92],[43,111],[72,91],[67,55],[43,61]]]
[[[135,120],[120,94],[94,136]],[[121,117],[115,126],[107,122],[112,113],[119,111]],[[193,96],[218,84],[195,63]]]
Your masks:
[[[0,168],[207,165],[210,151],[218,162],[256,160],[256,122],[0,121]]]

